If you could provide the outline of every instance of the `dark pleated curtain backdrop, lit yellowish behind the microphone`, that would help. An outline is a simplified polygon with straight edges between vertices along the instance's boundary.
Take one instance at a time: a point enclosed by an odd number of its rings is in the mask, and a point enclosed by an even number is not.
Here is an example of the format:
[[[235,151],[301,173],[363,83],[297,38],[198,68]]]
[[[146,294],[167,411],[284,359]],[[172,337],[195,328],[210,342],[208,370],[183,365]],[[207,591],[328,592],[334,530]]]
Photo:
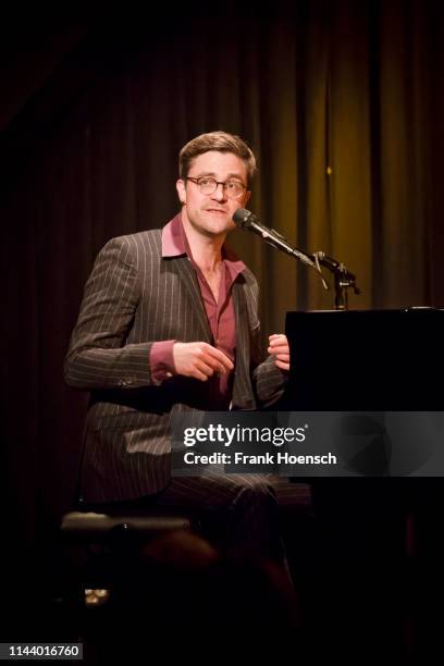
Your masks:
[[[355,272],[350,307],[444,305],[442,4],[194,7],[35,24],[3,42],[10,548],[47,553],[73,497],[86,396],[64,386],[62,363],[95,256],[177,211],[177,153],[193,136],[250,143],[249,207]],[[304,266],[240,231],[232,245],[260,281],[267,334],[287,310],[333,307]]]

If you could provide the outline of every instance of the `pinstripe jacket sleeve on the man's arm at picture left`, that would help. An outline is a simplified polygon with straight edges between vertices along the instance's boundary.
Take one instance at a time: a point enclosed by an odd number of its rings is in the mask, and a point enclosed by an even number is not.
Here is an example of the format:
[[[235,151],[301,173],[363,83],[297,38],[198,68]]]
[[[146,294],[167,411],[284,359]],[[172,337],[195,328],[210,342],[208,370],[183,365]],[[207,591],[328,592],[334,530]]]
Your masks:
[[[126,344],[139,296],[131,243],[124,236],[113,238],[99,252],[85,286],[64,362],[70,386],[89,391],[152,383],[152,342]]]

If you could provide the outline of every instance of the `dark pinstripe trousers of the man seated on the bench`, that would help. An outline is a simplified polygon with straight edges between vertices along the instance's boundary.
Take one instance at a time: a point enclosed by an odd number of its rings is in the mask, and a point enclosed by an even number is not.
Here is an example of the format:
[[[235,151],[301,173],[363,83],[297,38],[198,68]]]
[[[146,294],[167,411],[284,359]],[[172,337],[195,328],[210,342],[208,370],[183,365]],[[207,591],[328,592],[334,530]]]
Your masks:
[[[172,478],[160,493],[137,499],[82,505],[82,510],[147,514],[171,509],[199,522],[199,532],[219,552],[271,558],[286,567],[280,530],[282,511],[311,505],[310,489],[273,474],[225,474],[207,471],[200,477]]]

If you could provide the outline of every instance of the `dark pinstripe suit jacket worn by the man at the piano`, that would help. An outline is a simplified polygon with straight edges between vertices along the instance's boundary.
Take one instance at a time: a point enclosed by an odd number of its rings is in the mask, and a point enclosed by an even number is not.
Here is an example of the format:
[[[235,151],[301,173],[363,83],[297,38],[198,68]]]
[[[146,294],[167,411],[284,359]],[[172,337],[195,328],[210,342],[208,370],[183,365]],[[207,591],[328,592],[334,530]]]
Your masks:
[[[111,239],[85,287],[65,359],[65,380],[90,391],[81,492],[87,502],[124,501],[163,490],[170,479],[171,415],[211,409],[207,382],[173,377],[155,385],[153,342],[212,343],[198,280],[186,256],[162,258],[161,230]],[[283,374],[260,363],[258,285],[246,269],[233,283],[236,362],[232,405],[278,398]]]

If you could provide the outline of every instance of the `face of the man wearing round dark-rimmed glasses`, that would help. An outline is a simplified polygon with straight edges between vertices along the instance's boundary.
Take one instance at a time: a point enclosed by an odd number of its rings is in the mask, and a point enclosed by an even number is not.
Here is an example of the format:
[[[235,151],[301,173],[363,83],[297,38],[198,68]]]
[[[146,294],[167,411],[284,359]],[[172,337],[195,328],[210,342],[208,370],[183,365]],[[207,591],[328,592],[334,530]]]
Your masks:
[[[232,152],[210,150],[197,156],[189,168],[188,177],[200,178],[209,176],[218,182],[238,181],[247,185],[247,168],[240,158]],[[178,198],[184,205],[182,215],[196,231],[207,237],[220,236],[234,229],[233,213],[244,208],[250,197],[250,192],[244,190],[238,199],[229,198],[222,185],[210,195],[200,193],[199,186],[193,181],[176,183]]]

